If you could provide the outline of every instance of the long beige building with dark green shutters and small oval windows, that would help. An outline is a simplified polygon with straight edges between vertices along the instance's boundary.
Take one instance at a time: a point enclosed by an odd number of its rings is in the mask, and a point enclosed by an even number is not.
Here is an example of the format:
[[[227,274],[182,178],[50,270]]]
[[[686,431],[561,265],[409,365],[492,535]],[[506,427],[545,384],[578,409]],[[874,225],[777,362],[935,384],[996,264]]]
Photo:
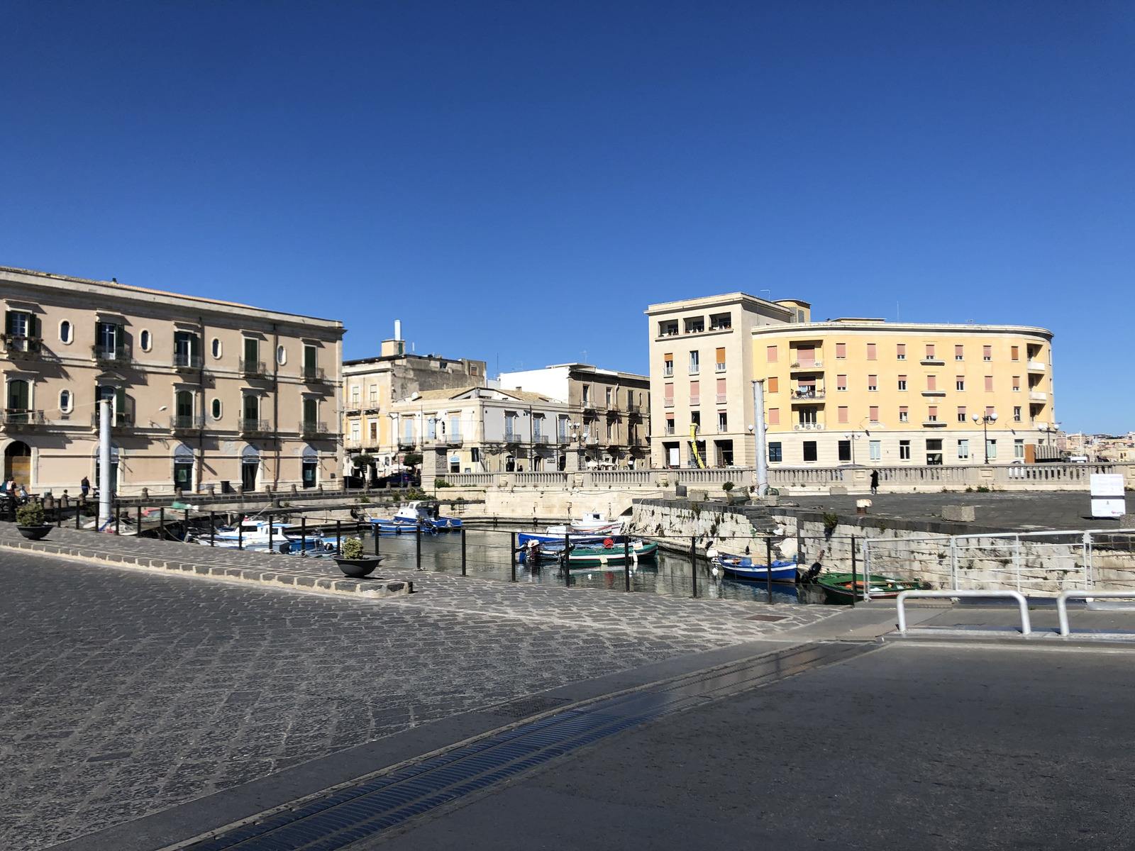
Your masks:
[[[5,475],[95,485],[110,403],[116,492],[338,487],[343,325],[0,268]]]

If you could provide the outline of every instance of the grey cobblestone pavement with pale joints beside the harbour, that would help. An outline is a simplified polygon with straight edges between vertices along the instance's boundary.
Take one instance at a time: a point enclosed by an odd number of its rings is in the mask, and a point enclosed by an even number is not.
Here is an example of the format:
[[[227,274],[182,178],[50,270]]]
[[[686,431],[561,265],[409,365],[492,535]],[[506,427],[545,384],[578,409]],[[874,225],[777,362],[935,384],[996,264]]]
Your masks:
[[[421,593],[0,550],[0,846],[44,848],[417,724],[834,614],[779,607],[788,620],[766,623],[745,620],[768,612],[758,604],[382,572]]]

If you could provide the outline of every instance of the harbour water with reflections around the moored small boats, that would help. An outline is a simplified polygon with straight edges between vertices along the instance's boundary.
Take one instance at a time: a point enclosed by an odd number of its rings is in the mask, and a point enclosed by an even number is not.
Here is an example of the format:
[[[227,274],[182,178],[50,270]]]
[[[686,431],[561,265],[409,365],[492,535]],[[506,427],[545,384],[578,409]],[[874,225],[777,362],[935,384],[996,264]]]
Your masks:
[[[510,536],[506,531],[469,529],[465,531],[466,570],[471,576],[487,576],[507,580],[511,575],[508,562]],[[375,539],[364,541],[368,553],[373,551]],[[461,536],[443,533],[422,536],[422,570],[436,573],[461,573]],[[388,556],[400,567],[414,566],[414,536],[384,536],[379,540],[379,551]],[[670,597],[689,597],[693,592],[690,578],[690,559],[658,550],[654,562],[631,566],[631,590],[645,593],[661,593]],[[532,583],[564,584],[563,571],[556,562],[529,562],[516,564],[516,581]],[[571,572],[572,588],[600,588],[623,591],[625,576],[622,565],[611,568],[580,568]],[[819,603],[812,595],[813,589],[773,583],[773,603]],[[818,590],[818,589],[817,589]],[[766,603],[768,592],[764,582],[751,582],[718,575],[714,578],[711,565],[698,561],[698,596],[724,600],[753,600]]]

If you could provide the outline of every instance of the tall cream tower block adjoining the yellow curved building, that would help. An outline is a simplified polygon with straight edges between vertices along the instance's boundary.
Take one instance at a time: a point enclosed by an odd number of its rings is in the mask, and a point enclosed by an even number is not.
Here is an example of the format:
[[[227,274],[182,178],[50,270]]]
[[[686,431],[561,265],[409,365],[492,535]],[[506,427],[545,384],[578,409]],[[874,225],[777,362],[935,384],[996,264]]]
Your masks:
[[[810,311],[796,298],[745,293],[651,304],[653,465],[698,466],[700,457],[706,466],[753,466],[753,331],[806,323]]]

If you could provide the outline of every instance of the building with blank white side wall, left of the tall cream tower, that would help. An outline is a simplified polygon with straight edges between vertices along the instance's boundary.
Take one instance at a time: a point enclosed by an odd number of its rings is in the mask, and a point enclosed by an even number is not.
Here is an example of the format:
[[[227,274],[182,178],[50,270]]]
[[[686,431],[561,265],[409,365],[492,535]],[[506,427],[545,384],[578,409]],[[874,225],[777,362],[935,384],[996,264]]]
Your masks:
[[[556,469],[649,466],[649,377],[557,363],[503,372],[497,381],[504,390],[532,391],[568,405],[566,426],[557,426],[557,437],[566,443],[558,445]]]

